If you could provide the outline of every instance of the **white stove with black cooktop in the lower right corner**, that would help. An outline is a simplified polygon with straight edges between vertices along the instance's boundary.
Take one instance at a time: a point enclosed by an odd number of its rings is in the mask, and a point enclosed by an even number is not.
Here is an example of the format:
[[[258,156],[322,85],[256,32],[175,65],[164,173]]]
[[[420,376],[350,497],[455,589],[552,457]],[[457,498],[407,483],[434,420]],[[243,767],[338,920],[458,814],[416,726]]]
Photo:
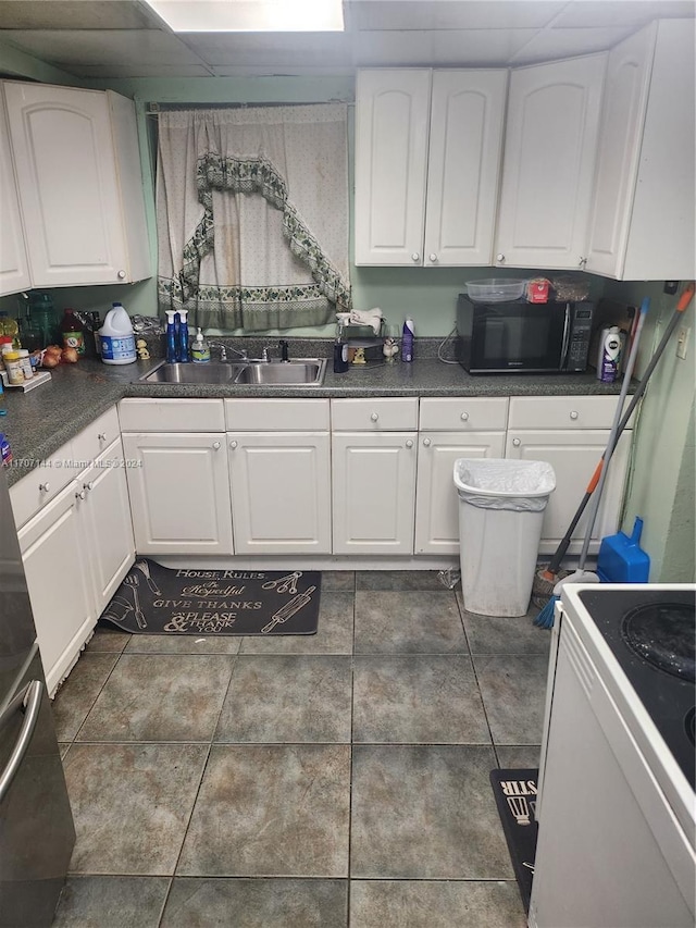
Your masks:
[[[696,586],[557,605],[531,928],[694,928]]]

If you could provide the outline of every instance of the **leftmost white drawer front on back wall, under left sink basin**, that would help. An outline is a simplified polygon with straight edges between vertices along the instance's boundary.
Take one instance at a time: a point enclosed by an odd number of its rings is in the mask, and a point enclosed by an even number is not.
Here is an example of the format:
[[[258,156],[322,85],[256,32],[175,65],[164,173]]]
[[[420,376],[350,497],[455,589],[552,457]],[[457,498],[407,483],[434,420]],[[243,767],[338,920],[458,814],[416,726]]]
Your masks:
[[[222,399],[122,399],[122,432],[224,432]]]

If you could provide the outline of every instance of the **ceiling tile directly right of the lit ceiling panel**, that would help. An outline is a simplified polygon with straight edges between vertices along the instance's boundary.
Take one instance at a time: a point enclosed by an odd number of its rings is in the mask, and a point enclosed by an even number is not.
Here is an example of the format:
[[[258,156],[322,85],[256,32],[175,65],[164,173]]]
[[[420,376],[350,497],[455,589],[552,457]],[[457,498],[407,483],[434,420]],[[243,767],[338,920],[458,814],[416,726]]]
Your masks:
[[[566,0],[349,0],[353,29],[540,28]]]

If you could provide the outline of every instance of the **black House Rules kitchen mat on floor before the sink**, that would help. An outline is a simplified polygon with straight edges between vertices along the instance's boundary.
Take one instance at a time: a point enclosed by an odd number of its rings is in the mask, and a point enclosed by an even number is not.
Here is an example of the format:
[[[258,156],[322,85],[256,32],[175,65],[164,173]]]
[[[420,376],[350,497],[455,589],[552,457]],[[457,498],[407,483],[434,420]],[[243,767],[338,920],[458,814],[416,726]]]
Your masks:
[[[140,557],[100,621],[134,634],[315,634],[319,571],[176,570]]]

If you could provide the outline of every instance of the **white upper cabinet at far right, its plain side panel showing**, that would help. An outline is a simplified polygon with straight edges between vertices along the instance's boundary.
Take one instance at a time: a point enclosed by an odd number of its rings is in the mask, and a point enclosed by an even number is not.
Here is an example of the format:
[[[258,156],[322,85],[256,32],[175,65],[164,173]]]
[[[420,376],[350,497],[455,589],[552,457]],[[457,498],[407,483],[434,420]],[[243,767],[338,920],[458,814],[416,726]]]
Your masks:
[[[696,274],[694,21],[661,20],[611,50],[587,270]]]

